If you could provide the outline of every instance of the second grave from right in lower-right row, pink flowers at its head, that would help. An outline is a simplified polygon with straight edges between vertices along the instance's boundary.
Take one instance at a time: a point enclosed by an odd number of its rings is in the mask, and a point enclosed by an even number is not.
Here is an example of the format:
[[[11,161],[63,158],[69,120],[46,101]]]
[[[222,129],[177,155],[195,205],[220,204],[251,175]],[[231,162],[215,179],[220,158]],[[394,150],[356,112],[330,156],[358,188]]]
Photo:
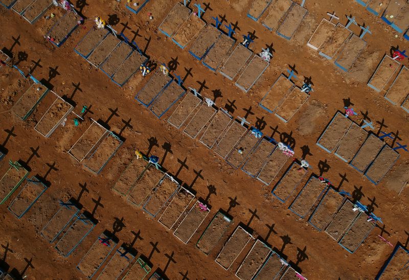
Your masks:
[[[344,204],[339,208],[338,212],[325,229],[325,232],[335,241],[338,241],[355,221],[358,214],[352,210],[353,208],[354,204],[350,200],[345,200]]]

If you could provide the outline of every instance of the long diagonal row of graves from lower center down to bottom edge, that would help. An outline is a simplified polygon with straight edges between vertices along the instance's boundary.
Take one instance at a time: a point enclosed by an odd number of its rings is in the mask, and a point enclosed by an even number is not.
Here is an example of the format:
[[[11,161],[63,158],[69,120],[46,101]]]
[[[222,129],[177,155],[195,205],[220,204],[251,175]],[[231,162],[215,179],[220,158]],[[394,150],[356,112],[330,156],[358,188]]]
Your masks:
[[[197,199],[193,190],[181,186],[173,176],[167,174],[154,156],[147,158],[137,152],[112,190],[126,197],[130,204],[142,207],[145,213],[173,232],[173,236],[184,244],[188,244],[205,220],[209,221],[210,207]],[[220,209],[202,232],[195,247],[208,255],[232,224],[233,218]],[[239,224],[225,241],[215,259],[216,263],[229,270],[239,254],[253,242],[236,271],[237,277],[242,280],[271,277],[305,279],[267,244],[255,239],[250,231]],[[141,276],[132,274],[132,279],[142,279]]]

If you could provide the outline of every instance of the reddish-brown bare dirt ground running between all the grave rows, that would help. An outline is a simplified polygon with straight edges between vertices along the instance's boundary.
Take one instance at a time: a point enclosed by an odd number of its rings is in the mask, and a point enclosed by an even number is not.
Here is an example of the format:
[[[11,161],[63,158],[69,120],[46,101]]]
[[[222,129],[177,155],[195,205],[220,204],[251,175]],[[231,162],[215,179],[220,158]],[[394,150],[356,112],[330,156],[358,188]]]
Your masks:
[[[54,91],[76,103],[75,112],[79,113],[82,105],[87,105],[92,111],[87,113],[87,118],[107,122],[111,130],[117,133],[124,127],[124,121],[131,120],[132,126],[123,130],[121,135],[125,142],[118,153],[98,176],[94,175],[66,153],[89,123],[84,122],[79,127],[74,127],[73,118],[70,117],[65,127],[59,127],[50,138],[44,138],[34,130],[34,125],[53,100],[44,99],[33,116],[22,122],[9,110],[13,102],[21,96],[24,82],[21,76],[10,68],[0,69],[2,90],[0,144],[4,142],[3,146],[8,151],[0,162],[0,174],[7,171],[9,159],[22,160],[31,169],[30,174],[39,174],[42,177],[47,175],[46,180],[50,183],[46,193],[21,219],[17,219],[8,211],[11,199],[0,206],[2,215],[0,256],[9,271],[14,269],[22,275],[27,275],[28,279],[85,278],[76,269],[77,264],[102,231],[105,229],[111,231],[115,221],[122,218],[124,226],[116,234],[120,244],[131,243],[134,239],[132,232],[140,232],[141,238],[133,244],[138,255],[148,256],[153,264],[152,272],[157,268],[166,270],[166,275],[170,279],[182,279],[182,274],[186,272],[190,279],[236,278],[234,273],[252,244],[247,244],[248,248],[243,250],[229,270],[224,270],[214,260],[223,243],[239,223],[252,228],[254,237],[261,237],[271,247],[281,250],[287,261],[297,264],[298,270],[310,279],[374,278],[393,250],[393,247],[379,239],[381,230],[375,228],[365,243],[351,254],[324,232],[316,231],[306,219],[294,215],[288,209],[292,199],[283,204],[269,195],[272,186],[289,166],[289,161],[279,176],[269,186],[265,186],[241,170],[233,169],[212,150],[171,126],[166,121],[169,112],[167,116],[158,120],[134,100],[138,90],[146,83],[146,78],[143,79],[138,73],[126,86],[120,88],[73,51],[78,41],[92,28],[95,16],[109,18],[113,28],[118,31],[127,23],[129,29],[125,29],[124,33],[128,37],[133,37],[132,31],[138,30],[141,36],[137,36],[135,41],[143,48],[148,44],[146,54],[158,64],[175,61],[177,58],[176,69],[172,73],[183,77],[186,69],[192,68],[192,76],[186,78],[185,86],[198,88],[198,82],[206,80],[207,87],[202,90],[202,95],[213,99],[213,92],[220,90],[222,96],[216,99],[216,105],[224,107],[234,101],[234,116],[243,116],[245,114],[243,109],[252,106],[254,114],[248,115],[247,120],[255,124],[263,119],[265,127],[262,132],[271,135],[273,129],[277,128],[278,132],[274,134],[277,139],[280,138],[280,133],[282,137],[291,135],[295,141],[296,157],[301,158],[303,154],[301,147],[305,149],[305,146],[308,146],[306,160],[311,165],[309,172],[320,173],[319,166],[322,164],[319,162],[326,162],[329,168],[323,175],[329,178],[334,186],[342,184],[341,189],[354,193],[355,198],[360,197],[362,204],[374,207],[374,213],[382,218],[384,230],[387,231],[382,232],[382,236],[393,245],[397,242],[407,244],[409,188],[404,188],[398,195],[393,186],[407,170],[408,153],[400,150],[400,158],[392,172],[375,186],[335,155],[317,147],[315,143],[336,110],[344,110],[344,99],[350,99],[353,103],[353,108],[358,112],[353,119],[358,123],[362,120],[362,113],[368,112],[370,120],[375,124],[373,129],[375,133],[379,127],[376,122],[384,120],[388,126],[385,130],[393,132],[399,130],[401,142],[409,143],[408,114],[386,101],[383,98],[384,92],[375,92],[367,86],[367,81],[381,57],[385,53],[390,53],[391,46],[399,45],[403,50],[408,47],[408,42],[400,37],[395,38],[392,28],[383,24],[380,18],[374,17],[354,1],[347,0],[307,0],[305,7],[309,13],[296,34],[288,41],[267,31],[260,22],[246,17],[251,2],[251,0],[211,1],[211,10],[208,9],[203,15],[207,22],[212,22],[211,18],[217,15],[225,15],[226,20],[232,24],[237,21],[240,30],[236,30],[235,38],[239,40],[247,32],[255,31],[257,38],[250,48],[257,53],[266,44],[273,44],[275,53],[270,66],[247,94],[237,88],[232,81],[210,72],[187,50],[179,49],[170,39],[157,31],[158,25],[175,1],[151,0],[142,12],[134,15],[124,7],[124,3],[113,0],[87,0],[82,13],[88,19],[61,48],[56,48],[43,37],[51,25],[49,20],[41,18],[34,25],[30,25],[15,12],[0,8],[3,26],[0,46],[11,49],[13,38],[18,37],[19,42],[13,45],[12,53],[15,57],[19,52],[28,55],[25,60],[18,62],[18,67],[28,73],[34,65],[33,62],[40,60],[41,67],[35,67],[32,74],[38,79],[51,78],[50,83],[54,86]],[[190,6],[193,7],[196,3],[192,1]],[[327,17],[327,12],[333,11],[343,24],[346,23],[345,15],[353,14],[359,24],[369,25],[372,31],[372,35],[367,34],[365,37],[368,47],[348,74],[341,72],[332,62],[320,57],[306,45],[321,19]],[[152,13],[152,20],[149,20],[148,12]],[[359,33],[357,26],[352,26],[352,30]],[[407,59],[403,63],[407,65]],[[298,71],[296,84],[302,85],[303,76],[311,77],[314,92],[300,111],[285,124],[260,108],[258,102],[278,75],[286,73],[288,66],[294,64]],[[51,68],[57,68],[59,74],[56,77],[49,77]],[[74,84],[79,84],[81,90],[75,91]],[[111,111],[115,109],[116,114],[112,115]],[[7,132],[10,130],[13,131],[11,137]],[[148,139],[151,137],[157,139],[157,145],[149,149]],[[166,148],[167,146],[170,148]],[[32,150],[37,147],[38,156],[32,155]],[[111,191],[112,185],[125,169],[135,149],[140,149],[144,153],[149,150],[150,154],[159,156],[161,162],[164,158],[164,147],[171,150],[167,152],[163,161],[164,168],[172,174],[177,173],[177,178],[191,186],[197,197],[208,198],[208,204],[211,205],[211,213],[186,245],[145,214],[141,208],[131,206],[125,199]],[[180,162],[184,159],[188,168],[179,170]],[[54,162],[57,170],[48,172],[49,165]],[[201,176],[197,177],[199,171]],[[344,174],[347,180],[340,176]],[[395,175],[400,177],[396,178]],[[299,185],[298,190],[305,184],[307,177]],[[84,184],[87,191],[81,192],[80,185]],[[208,184],[215,186],[215,192],[210,195]],[[93,212],[98,224],[68,258],[63,258],[54,249],[55,244],[44,240],[39,231],[57,211],[58,200],[67,200],[71,197],[79,199],[85,211]],[[209,255],[203,254],[195,247],[198,238],[218,209],[226,211],[230,199],[235,197],[238,204],[229,212],[233,217],[232,225],[212,252]],[[96,207],[98,200],[102,205]],[[256,211],[256,216],[253,216],[251,212]],[[271,225],[274,226],[274,230],[269,230]],[[285,236],[290,238],[290,242],[283,245]],[[152,246],[156,246],[157,250],[153,250]],[[300,252],[304,249],[305,255],[302,255]],[[173,261],[169,261],[169,256],[172,256]],[[27,267],[27,260],[32,260],[32,267]]]

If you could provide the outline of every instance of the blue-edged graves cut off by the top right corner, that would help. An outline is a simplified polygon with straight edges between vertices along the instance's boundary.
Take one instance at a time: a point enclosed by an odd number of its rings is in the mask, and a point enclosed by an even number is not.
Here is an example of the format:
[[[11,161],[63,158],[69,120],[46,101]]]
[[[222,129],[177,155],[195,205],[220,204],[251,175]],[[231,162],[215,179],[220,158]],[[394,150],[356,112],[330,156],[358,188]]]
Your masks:
[[[409,3],[405,0],[355,0],[375,16],[409,40]]]

